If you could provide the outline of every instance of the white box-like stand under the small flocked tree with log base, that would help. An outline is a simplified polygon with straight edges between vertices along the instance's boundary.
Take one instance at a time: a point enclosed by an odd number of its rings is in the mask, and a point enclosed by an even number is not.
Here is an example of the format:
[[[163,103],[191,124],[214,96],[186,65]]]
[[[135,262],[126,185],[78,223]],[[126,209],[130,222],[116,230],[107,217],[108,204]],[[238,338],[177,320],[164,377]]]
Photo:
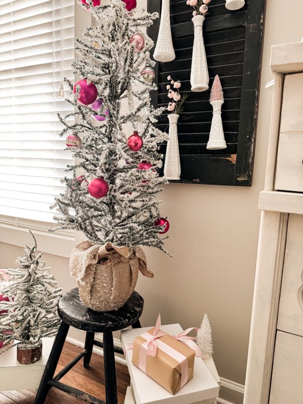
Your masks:
[[[53,342],[54,337],[42,338],[42,358],[32,365],[17,361],[17,346],[0,354],[0,391],[38,388]]]

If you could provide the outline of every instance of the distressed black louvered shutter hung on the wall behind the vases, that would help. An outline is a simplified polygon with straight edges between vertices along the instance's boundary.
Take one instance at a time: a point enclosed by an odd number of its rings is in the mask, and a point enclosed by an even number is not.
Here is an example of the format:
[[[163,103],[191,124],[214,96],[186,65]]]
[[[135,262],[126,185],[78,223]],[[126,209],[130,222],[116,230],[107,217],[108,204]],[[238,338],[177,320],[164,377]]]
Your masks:
[[[149,12],[161,11],[161,0],[148,0]],[[170,74],[182,81],[182,92],[189,92],[184,112],[178,121],[181,180],[172,182],[250,186],[257,124],[258,86],[261,67],[265,0],[246,0],[235,12],[225,8],[225,0],[212,0],[203,32],[210,75],[210,88],[220,76],[225,102],[222,120],[227,148],[207,150],[212,106],[210,89],[190,91],[193,44],[193,9],[186,0],[170,2],[172,37],[176,59],[157,63],[158,92],[152,91],[154,105],[167,106],[166,85]],[[156,42],[160,19],[148,29]],[[151,51],[153,55],[154,49]],[[158,127],[168,132],[167,111]],[[166,145],[161,147],[165,154]]]

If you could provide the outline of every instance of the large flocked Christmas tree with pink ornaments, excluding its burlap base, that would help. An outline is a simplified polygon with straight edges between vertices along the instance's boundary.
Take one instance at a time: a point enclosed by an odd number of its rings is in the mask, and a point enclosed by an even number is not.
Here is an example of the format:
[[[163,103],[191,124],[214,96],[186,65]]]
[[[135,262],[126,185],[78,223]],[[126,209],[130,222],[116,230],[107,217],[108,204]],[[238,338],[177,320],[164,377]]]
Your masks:
[[[122,0],[86,3],[96,26],[76,40],[74,71],[81,80],[74,87],[69,83],[75,124],[60,117],[76,163],[68,167],[66,191],[56,199],[58,228],[80,230],[93,243],[165,251],[159,233],[169,223],[160,217],[156,197],[165,182],[158,174],[159,145],[167,137],[154,126],[162,109],[154,109],[149,95],[157,88],[151,83],[153,41],[141,31],[158,14],[129,12]]]

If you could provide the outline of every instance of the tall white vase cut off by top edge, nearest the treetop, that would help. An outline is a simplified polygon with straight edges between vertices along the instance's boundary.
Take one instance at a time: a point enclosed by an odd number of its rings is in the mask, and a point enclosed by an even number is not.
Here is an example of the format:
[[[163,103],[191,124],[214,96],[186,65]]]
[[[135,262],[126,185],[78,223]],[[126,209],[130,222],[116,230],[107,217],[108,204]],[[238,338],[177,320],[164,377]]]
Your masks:
[[[169,0],[162,0],[160,28],[154,52],[154,59],[158,62],[170,62],[176,57],[172,40],[169,7]]]

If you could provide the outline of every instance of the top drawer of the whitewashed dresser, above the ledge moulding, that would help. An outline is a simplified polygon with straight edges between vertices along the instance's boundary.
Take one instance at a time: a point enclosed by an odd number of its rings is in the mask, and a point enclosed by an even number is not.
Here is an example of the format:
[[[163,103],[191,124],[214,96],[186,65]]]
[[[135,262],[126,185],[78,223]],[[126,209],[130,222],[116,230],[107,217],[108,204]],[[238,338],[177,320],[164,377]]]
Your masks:
[[[285,76],[275,189],[303,192],[303,73]]]

